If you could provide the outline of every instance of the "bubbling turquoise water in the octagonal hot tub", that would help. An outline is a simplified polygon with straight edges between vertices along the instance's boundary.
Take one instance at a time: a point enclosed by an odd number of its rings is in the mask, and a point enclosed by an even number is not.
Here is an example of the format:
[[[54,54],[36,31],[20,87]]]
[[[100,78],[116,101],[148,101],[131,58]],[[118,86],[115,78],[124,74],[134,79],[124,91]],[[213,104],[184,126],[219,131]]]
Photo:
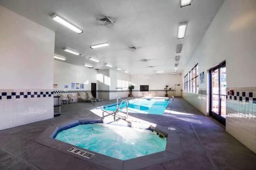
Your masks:
[[[121,160],[164,151],[166,146],[166,138],[151,130],[102,123],[60,131],[55,139]]]

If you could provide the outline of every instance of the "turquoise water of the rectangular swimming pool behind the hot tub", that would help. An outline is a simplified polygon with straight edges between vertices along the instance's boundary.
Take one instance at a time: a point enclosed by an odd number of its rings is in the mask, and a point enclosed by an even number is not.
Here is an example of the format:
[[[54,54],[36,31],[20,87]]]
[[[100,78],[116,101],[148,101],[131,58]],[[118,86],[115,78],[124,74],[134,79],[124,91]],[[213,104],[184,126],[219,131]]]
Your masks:
[[[163,114],[167,107],[169,100],[164,99],[134,99],[129,101],[130,113],[144,113],[144,114]],[[126,111],[126,104],[123,103],[121,111]],[[125,108],[125,109],[124,109]],[[116,111],[117,106],[103,106],[103,110]]]

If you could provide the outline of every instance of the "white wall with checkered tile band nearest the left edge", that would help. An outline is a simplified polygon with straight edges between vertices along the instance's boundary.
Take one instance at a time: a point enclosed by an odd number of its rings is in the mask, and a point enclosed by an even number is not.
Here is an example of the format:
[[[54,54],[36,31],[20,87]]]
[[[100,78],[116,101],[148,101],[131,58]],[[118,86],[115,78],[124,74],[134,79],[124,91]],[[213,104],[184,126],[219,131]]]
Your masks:
[[[2,6],[0,26],[0,130],[52,118],[55,33]]]

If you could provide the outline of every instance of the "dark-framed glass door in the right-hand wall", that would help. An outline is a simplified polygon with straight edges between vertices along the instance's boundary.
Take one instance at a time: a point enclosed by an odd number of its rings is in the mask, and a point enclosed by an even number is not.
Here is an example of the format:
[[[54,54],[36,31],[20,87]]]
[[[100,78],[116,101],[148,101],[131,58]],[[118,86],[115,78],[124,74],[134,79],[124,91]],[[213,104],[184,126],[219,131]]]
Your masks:
[[[226,125],[226,63],[209,70],[210,104],[209,114],[222,125]]]

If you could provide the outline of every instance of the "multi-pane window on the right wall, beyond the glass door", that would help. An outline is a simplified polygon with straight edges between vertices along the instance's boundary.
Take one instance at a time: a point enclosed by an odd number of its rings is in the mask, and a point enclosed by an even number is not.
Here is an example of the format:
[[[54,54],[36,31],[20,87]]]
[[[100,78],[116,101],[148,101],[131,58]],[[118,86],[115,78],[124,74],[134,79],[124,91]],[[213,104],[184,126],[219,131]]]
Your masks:
[[[199,77],[198,63],[184,77],[184,91],[198,93]]]

